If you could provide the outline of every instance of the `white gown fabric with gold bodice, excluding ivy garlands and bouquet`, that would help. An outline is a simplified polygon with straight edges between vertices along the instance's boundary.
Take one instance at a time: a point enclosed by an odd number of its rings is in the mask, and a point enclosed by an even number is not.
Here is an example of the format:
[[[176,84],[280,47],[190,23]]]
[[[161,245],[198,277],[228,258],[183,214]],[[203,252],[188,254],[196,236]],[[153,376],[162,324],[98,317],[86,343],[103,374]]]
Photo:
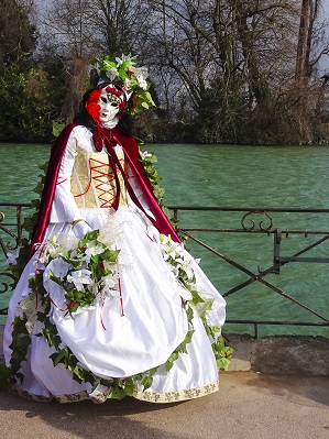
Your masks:
[[[124,164],[121,146],[117,145],[116,151]],[[182,306],[190,294],[177,282],[174,271],[164,260],[157,229],[131,201],[122,179],[119,209],[114,211],[107,207],[111,196],[105,195],[103,189],[111,191],[111,178],[103,173],[102,165],[106,163],[107,153],[95,151],[91,132],[84,127],[74,128],[61,164],[45,241],[54,235],[65,237],[66,241],[75,240],[70,223],[80,218],[92,230],[99,229],[109,235],[120,250],[120,294],[96,299],[92,307],[79,309],[73,318],[65,310],[63,288],[50,279],[51,267],[47,266],[43,276],[52,301],[48,317],[56,325],[62,345],[70,349],[80,367],[99,378],[124,380],[157,367],[151,387],[143,389],[141,383],[135,383],[132,396],[139,399],[165,403],[212,393],[218,389],[218,366],[211,340],[197,312],[194,312],[194,333],[187,344],[187,353],[179,353],[169,371],[164,367],[190,329]],[[86,166],[89,173],[88,194],[85,187],[84,190],[80,187],[86,184],[79,179],[79,166]],[[150,213],[130,169],[127,166],[125,169],[143,208]],[[90,204],[94,204],[92,207]],[[9,347],[12,341],[11,322],[20,314],[19,304],[26,297],[33,297],[28,278],[41,264],[40,252],[36,251],[28,263],[9,304],[3,341],[8,366],[12,354]],[[213,300],[211,310],[207,312],[209,326],[222,326],[223,298],[197,262],[193,261],[191,267],[199,294]],[[92,387],[85,381],[79,383],[63,363],[54,366],[50,355],[55,350],[44,337],[37,336],[41,327],[40,321],[33,321],[30,328],[31,347],[20,371],[24,380],[17,382],[13,389],[36,399],[55,397],[61,403],[86,398],[100,403],[110,397],[111,387],[102,384]]]

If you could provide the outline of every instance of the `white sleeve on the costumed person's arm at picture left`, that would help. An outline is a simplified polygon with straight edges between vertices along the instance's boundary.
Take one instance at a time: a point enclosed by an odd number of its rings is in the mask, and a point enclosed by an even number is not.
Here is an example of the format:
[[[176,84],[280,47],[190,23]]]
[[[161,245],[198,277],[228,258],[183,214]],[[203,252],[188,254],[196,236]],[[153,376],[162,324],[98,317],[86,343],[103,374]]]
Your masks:
[[[63,155],[56,182],[50,222],[72,222],[81,218],[70,191],[70,177],[77,155],[76,130],[73,130]]]

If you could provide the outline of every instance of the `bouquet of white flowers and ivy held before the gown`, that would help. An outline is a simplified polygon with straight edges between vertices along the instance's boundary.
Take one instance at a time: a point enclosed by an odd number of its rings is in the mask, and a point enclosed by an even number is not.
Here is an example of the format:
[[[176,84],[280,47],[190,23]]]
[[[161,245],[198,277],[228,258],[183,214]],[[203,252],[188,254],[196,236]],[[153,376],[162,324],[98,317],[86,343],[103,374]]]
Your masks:
[[[101,240],[99,230],[69,242],[53,237],[42,245],[37,260],[44,267],[45,288],[57,290],[50,294],[52,304],[73,316],[92,307],[95,299],[119,295],[119,253]],[[59,289],[47,288],[50,281]]]

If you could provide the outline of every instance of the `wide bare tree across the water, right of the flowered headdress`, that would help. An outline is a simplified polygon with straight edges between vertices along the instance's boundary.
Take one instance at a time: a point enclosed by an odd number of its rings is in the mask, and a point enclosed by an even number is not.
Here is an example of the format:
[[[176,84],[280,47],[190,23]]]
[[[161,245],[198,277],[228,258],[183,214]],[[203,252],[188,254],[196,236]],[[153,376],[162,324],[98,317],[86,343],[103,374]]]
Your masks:
[[[172,70],[175,103],[182,97],[191,102],[204,140],[239,141],[248,112],[275,99],[292,77],[295,2],[149,2],[160,23],[150,36],[157,47],[151,56],[161,70]]]

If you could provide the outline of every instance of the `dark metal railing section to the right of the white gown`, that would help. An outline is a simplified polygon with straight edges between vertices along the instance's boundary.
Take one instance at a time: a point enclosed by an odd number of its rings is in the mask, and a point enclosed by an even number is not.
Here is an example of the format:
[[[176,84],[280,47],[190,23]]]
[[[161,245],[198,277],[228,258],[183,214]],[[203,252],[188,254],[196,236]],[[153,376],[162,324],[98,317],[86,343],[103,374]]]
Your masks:
[[[303,255],[310,250],[316,249],[321,243],[329,240],[329,230],[311,230],[311,229],[281,229],[274,227],[273,212],[278,213],[294,213],[294,215],[306,215],[306,213],[315,213],[315,215],[327,215],[328,216],[328,224],[329,224],[329,209],[310,209],[310,208],[270,208],[270,207],[187,207],[187,206],[171,206],[168,207],[174,211],[174,219],[179,224],[178,212],[183,211],[208,211],[208,212],[241,212],[242,217],[240,218],[240,227],[235,228],[201,228],[201,227],[180,227],[178,226],[178,232],[183,235],[189,238],[189,240],[196,242],[201,245],[207,251],[211,252],[213,255],[219,259],[226,261],[228,264],[237,268],[238,271],[248,275],[248,281],[238,283],[233,287],[229,288],[227,292],[221,293],[223,297],[228,297],[237,292],[245,288],[246,286],[253,283],[260,283],[271,290],[275,292],[282,297],[285,297],[287,300],[294,303],[300,308],[305,309],[312,316],[316,316],[318,321],[283,321],[283,320],[255,320],[255,319],[228,319],[227,323],[235,323],[235,325],[252,325],[254,330],[254,336],[259,336],[259,327],[260,326],[298,326],[298,327],[329,327],[329,309],[323,310],[323,312],[319,314],[315,309],[311,309],[309,306],[306,306],[301,301],[294,298],[292,295],[287,294],[282,288],[274,285],[273,282],[268,282],[265,279],[265,276],[268,274],[281,273],[281,268],[288,264],[295,262],[308,262],[308,263],[328,263],[329,257],[319,257],[319,256],[310,256],[304,257]],[[255,220],[257,218],[257,220]],[[248,224],[250,221],[250,224]],[[266,223],[264,223],[266,221]],[[252,272],[241,263],[232,260],[231,257],[224,255],[218,250],[213,249],[209,244],[207,244],[204,240],[200,240],[195,235],[195,232],[207,232],[207,233],[248,233],[248,234],[265,234],[267,237],[273,235],[273,263],[266,270],[257,270],[256,273]],[[315,237],[316,241],[311,244],[303,246],[297,252],[294,252],[289,256],[283,256],[281,252],[281,244],[283,237],[288,238],[289,235],[301,235],[301,237]],[[319,238],[317,238],[319,237]]]

